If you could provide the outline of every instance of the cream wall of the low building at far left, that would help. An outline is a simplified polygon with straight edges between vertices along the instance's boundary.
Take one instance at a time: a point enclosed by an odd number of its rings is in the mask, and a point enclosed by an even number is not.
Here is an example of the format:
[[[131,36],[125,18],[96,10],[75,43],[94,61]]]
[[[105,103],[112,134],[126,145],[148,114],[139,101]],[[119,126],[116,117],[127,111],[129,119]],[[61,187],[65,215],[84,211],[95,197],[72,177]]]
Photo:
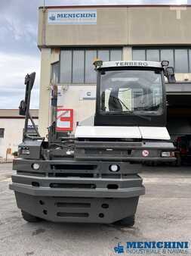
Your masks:
[[[35,120],[35,123],[38,124],[38,120]],[[0,159],[5,159],[7,148],[11,148],[13,153],[22,142],[24,119],[1,118],[0,127],[5,128],[4,138],[0,138]],[[12,155],[8,155],[8,159],[12,158]]]

